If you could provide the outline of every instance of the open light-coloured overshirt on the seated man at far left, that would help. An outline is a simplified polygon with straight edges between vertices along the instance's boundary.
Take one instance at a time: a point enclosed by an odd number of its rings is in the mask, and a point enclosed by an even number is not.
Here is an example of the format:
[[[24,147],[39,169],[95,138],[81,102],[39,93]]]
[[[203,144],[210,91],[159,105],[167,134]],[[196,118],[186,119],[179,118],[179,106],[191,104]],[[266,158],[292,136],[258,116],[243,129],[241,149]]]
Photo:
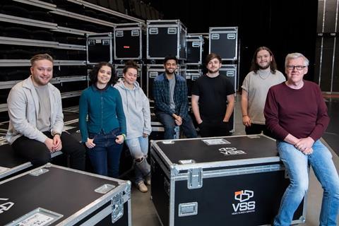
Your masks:
[[[47,136],[37,129],[39,99],[32,82],[32,76],[13,86],[7,98],[9,126],[6,140],[13,143],[20,136],[44,143]],[[48,83],[51,103],[51,133],[60,133],[64,129],[60,91]]]

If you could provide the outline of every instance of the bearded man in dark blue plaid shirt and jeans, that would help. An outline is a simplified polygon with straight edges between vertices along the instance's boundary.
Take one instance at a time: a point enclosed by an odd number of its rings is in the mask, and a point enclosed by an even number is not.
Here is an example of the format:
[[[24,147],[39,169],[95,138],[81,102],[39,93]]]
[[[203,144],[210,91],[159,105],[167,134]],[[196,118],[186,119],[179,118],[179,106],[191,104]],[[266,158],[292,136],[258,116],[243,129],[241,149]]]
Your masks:
[[[191,117],[187,98],[186,78],[175,73],[178,59],[167,56],[164,60],[165,73],[153,82],[155,114],[165,127],[164,139],[174,138],[174,127],[181,126],[187,138],[197,136]]]

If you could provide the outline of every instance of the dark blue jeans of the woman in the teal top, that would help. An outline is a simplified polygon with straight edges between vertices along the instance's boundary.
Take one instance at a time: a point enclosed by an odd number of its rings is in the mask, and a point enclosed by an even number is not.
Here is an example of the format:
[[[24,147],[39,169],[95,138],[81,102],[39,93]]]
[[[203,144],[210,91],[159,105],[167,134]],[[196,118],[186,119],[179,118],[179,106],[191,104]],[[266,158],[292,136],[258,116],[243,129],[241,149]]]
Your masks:
[[[119,129],[113,129],[107,134],[90,133],[89,137],[94,138],[94,148],[86,148],[88,157],[93,165],[96,174],[117,178],[119,176],[119,161],[122,144],[115,142],[120,135]]]

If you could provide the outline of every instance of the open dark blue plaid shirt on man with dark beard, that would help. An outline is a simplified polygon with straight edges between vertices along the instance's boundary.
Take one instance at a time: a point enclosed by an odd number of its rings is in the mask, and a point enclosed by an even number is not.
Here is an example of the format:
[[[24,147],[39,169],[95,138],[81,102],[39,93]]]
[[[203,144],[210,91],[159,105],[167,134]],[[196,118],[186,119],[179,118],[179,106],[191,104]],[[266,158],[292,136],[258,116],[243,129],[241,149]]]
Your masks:
[[[169,101],[169,81],[165,73],[157,76],[153,81],[153,97],[155,102],[155,110],[165,112],[172,115],[173,113],[187,120],[189,111],[189,101],[187,97],[186,79],[182,76],[175,75],[175,86],[173,100],[174,109],[170,109]]]

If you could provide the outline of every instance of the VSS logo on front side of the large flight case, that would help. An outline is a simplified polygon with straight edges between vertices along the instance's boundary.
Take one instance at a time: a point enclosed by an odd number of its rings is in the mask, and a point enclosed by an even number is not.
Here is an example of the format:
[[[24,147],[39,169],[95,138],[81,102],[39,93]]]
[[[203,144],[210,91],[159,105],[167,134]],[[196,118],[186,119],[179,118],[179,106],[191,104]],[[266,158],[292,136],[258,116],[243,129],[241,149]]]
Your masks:
[[[254,197],[254,191],[242,190],[234,192],[234,199],[239,203],[232,203],[234,210],[233,215],[242,213],[254,212],[256,208],[256,201],[249,201],[250,198]]]

